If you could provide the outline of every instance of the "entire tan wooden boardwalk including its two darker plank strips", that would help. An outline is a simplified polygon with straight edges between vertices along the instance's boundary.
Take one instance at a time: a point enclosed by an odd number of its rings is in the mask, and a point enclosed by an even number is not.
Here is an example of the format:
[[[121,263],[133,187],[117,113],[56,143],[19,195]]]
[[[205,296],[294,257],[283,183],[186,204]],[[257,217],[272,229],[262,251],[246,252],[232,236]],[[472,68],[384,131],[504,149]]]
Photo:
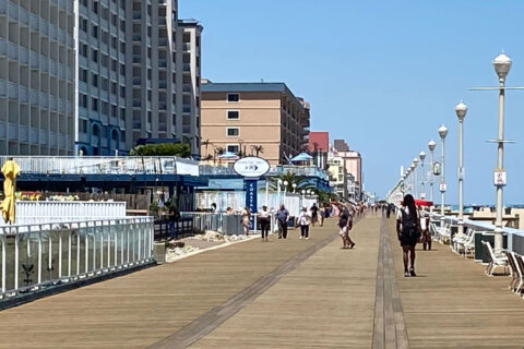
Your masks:
[[[403,278],[393,228],[365,218],[347,251],[331,220],[307,241],[242,242],[5,310],[0,348],[524,346],[508,277],[436,244]]]

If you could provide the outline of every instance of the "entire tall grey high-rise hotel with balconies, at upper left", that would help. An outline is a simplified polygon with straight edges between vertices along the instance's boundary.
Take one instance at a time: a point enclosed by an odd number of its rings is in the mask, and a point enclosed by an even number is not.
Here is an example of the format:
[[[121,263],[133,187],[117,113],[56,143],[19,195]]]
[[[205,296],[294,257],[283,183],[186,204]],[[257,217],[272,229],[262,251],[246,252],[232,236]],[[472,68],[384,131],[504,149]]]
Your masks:
[[[0,154],[115,155],[176,139],[199,155],[202,26],[177,10],[177,0],[0,0]]]

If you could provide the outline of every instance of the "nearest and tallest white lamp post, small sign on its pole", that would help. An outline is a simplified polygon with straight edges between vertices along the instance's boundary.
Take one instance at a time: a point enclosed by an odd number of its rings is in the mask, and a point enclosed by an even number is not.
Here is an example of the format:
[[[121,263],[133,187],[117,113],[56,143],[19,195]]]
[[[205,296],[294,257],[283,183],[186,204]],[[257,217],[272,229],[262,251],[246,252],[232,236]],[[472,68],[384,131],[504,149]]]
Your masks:
[[[505,94],[505,76],[511,68],[511,59],[504,52],[497,56],[493,60],[493,68],[499,76],[499,133],[497,137],[497,168],[496,173],[501,173],[504,178],[504,94]],[[502,188],[505,180],[496,182],[497,186],[497,215],[495,219],[495,249],[502,249]]]

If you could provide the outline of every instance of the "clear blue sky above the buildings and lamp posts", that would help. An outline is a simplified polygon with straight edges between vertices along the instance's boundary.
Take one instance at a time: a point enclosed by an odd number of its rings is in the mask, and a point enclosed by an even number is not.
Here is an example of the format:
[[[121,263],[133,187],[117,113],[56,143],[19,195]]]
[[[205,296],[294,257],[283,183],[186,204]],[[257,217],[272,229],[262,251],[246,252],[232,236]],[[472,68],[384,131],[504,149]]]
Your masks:
[[[495,203],[497,92],[492,59],[524,86],[524,1],[179,0],[204,26],[202,73],[214,82],[285,82],[311,103],[311,130],[361,153],[366,189],[384,196],[438,128],[446,137],[446,203],[457,202],[457,119],[466,203]],[[524,203],[524,91],[507,94],[504,203]],[[437,195],[436,191],[436,197]],[[437,200],[439,202],[439,200]]]

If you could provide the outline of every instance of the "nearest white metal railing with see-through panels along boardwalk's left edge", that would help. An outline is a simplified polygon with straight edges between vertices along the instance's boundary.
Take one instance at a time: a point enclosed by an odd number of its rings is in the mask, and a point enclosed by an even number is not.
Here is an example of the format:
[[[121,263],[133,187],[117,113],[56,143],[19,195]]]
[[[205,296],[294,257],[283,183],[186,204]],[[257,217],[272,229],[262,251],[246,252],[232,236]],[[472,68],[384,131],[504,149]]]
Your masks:
[[[153,218],[0,227],[1,299],[152,260]]]

